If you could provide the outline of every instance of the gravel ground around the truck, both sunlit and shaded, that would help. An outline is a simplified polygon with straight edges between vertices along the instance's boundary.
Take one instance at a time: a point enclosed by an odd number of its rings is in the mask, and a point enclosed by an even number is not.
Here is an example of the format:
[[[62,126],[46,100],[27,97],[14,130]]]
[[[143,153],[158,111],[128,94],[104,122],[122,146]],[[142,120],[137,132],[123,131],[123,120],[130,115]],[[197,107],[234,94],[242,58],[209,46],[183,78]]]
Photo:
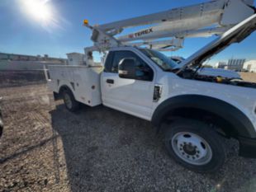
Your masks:
[[[256,160],[228,158],[215,174],[179,166],[149,122],[104,106],[76,113],[43,84],[0,88],[0,191],[256,191]]]

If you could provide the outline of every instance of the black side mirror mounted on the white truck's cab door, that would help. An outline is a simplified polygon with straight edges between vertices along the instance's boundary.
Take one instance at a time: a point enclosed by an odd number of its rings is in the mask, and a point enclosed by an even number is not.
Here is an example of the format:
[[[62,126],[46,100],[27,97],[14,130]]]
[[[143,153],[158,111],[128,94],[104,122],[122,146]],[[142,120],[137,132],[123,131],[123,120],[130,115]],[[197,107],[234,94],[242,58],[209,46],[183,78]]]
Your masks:
[[[122,59],[118,64],[118,74],[121,78],[135,79],[136,64],[135,59],[127,58]]]

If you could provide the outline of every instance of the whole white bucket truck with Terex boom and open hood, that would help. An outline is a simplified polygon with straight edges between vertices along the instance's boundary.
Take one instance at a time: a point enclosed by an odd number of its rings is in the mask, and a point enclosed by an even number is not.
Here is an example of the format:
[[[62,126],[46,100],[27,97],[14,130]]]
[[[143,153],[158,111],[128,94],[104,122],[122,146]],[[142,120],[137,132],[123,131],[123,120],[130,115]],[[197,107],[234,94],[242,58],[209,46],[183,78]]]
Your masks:
[[[238,139],[239,155],[256,157],[256,84],[198,73],[206,59],[256,29],[253,1],[220,0],[106,25],[84,24],[92,29],[94,46],[85,49],[83,62],[78,59],[82,64],[50,66],[47,77],[68,110],[81,103],[106,105],[149,120],[163,130],[168,153],[192,171],[222,166],[221,138]],[[150,24],[115,37],[128,26]],[[209,35],[216,40],[179,65],[159,52],[181,48],[186,37]],[[173,39],[159,40],[166,37]],[[105,54],[101,64],[93,63],[93,51]]]

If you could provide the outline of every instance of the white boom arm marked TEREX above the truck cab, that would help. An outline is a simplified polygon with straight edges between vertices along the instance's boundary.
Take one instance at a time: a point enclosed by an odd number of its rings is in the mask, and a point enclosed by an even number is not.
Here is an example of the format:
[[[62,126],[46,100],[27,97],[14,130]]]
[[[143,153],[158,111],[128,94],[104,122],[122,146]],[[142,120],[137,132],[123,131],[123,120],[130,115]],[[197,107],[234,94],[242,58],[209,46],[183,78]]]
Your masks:
[[[222,35],[232,26],[252,16],[255,12],[253,6],[253,0],[217,0],[100,26],[86,26],[92,29],[92,41],[100,51],[127,44],[159,50],[170,50],[171,47],[171,50],[176,50],[183,47],[183,40],[187,37]],[[146,25],[151,26],[114,37],[126,28]]]

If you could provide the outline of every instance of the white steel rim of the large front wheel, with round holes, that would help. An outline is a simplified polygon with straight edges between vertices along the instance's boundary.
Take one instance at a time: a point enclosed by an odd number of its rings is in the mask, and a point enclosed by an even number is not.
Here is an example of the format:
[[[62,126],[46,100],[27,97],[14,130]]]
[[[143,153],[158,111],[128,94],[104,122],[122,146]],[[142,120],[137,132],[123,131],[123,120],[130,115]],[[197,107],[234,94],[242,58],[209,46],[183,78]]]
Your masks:
[[[171,144],[175,154],[184,162],[202,166],[211,161],[212,151],[209,143],[195,133],[176,133]]]

